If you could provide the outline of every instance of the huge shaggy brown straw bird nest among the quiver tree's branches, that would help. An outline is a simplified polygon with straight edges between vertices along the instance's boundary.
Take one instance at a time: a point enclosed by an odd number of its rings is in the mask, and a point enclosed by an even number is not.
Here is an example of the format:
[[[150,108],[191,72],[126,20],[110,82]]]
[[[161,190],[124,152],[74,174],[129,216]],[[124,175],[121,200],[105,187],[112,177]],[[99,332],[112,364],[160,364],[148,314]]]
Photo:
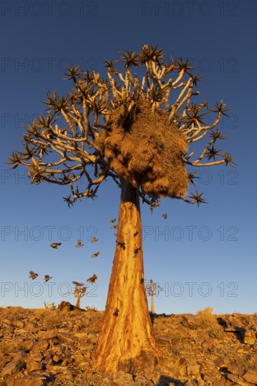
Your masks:
[[[161,109],[141,97],[129,113],[116,107],[98,145],[117,175],[154,197],[184,196],[188,178],[182,156],[187,142]]]

